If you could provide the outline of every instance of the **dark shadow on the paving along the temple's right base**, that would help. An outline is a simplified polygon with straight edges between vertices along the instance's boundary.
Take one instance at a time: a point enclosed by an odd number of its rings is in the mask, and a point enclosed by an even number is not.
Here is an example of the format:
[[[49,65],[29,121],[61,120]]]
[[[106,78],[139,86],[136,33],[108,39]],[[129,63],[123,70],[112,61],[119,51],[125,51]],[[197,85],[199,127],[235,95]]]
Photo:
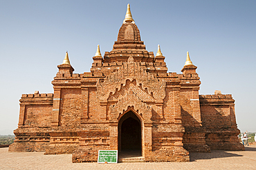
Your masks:
[[[224,151],[224,150],[212,150],[210,153],[190,153],[190,162],[194,162],[196,160],[210,160],[214,158],[228,158],[228,157],[235,157],[235,156],[242,156],[242,155],[239,155],[236,153],[228,153],[228,151]]]

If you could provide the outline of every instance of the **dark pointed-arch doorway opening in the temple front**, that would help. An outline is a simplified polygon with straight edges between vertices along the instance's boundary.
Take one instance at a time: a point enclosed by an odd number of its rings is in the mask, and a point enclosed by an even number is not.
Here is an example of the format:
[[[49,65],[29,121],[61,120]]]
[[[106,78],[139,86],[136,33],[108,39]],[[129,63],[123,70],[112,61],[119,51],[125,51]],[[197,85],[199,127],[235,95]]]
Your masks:
[[[121,153],[141,155],[141,123],[133,111],[128,111],[118,123],[118,149]]]

